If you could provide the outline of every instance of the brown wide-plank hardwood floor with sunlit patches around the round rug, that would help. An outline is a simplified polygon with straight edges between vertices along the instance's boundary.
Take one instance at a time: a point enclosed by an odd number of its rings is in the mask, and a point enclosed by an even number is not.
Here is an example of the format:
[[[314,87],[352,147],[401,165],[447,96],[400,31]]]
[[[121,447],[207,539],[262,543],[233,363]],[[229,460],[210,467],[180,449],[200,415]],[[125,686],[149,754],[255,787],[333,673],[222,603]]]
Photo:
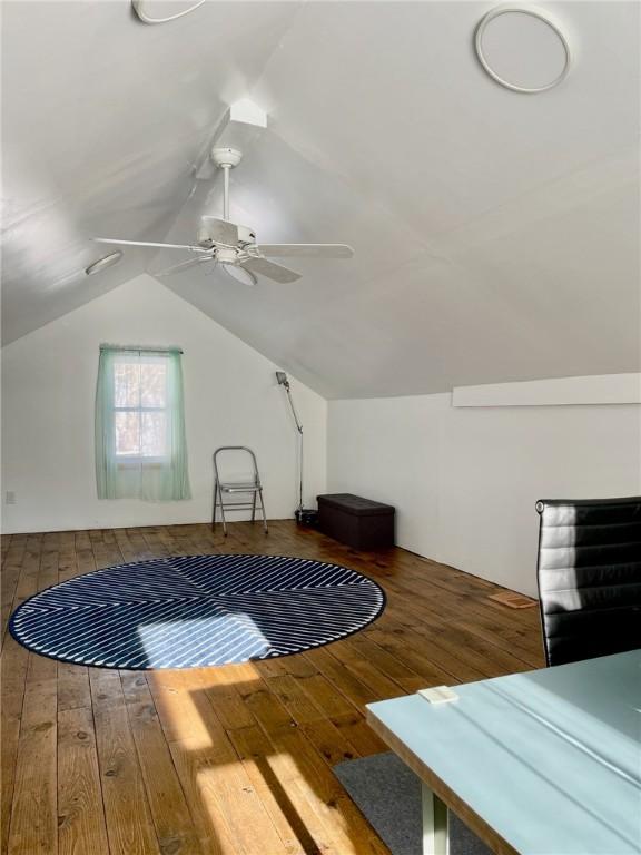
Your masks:
[[[386,590],[362,632],[305,655],[183,671],[56,662],[6,632],[36,591],[112,563],[270,552],[335,561]],[[14,534],[2,544],[1,852],[384,855],[332,773],[385,750],[373,700],[543,665],[535,609],[404,550],[354,552],[293,522]]]

